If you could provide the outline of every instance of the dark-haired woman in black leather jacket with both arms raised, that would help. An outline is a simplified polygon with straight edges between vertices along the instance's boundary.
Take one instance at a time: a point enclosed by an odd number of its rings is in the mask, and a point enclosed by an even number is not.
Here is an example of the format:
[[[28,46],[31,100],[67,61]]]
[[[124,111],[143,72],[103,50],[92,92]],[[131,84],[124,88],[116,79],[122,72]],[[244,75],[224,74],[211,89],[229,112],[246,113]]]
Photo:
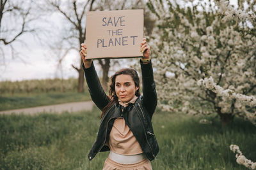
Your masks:
[[[144,38],[140,60],[143,96],[140,79],[134,69],[124,68],[111,76],[109,96],[100,85],[92,60],[86,59],[87,48],[81,45],[84,75],[92,101],[102,110],[99,132],[89,160],[98,152],[110,150],[104,170],[152,169],[150,161],[159,152],[152,127],[152,115],[157,105],[156,85],[150,60],[150,46]]]

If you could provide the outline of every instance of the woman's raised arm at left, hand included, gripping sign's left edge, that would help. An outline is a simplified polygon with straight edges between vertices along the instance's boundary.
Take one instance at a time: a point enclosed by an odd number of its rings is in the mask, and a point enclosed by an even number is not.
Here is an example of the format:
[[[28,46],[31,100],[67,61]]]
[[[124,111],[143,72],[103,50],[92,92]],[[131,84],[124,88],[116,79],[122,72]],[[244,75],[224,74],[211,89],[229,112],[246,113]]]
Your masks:
[[[84,43],[81,44],[80,55],[83,59],[82,67],[84,70],[84,76],[86,78],[90,96],[96,106],[102,110],[109,103],[109,98],[104,92],[102,85],[100,84],[99,76],[95,71],[92,60],[86,59],[87,47]]]

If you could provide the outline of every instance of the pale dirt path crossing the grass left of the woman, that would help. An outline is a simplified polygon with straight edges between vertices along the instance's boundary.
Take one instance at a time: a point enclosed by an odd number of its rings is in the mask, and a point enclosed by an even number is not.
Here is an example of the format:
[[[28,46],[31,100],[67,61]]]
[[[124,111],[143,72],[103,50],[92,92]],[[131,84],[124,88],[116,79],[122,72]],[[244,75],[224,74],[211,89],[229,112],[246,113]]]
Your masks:
[[[81,111],[81,110],[92,110],[93,108],[93,102],[92,101],[83,101],[83,102],[74,102],[74,103],[63,103],[63,104],[54,104],[49,106],[38,106],[34,108],[23,108],[23,109],[17,109],[17,110],[6,110],[6,111],[0,111],[0,114],[35,114],[35,113],[62,113],[63,111]]]

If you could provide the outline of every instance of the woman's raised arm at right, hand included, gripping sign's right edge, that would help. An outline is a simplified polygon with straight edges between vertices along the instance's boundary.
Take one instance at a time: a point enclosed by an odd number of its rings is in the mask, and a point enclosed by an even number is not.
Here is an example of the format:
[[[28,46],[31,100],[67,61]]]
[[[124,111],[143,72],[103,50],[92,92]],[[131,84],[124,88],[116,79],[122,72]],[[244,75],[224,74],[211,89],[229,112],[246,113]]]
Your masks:
[[[154,111],[156,110],[157,94],[150,59],[150,46],[148,46],[145,38],[141,43],[141,52],[143,52],[143,58],[140,60],[143,85],[142,103],[143,106],[145,106],[145,109],[148,111],[148,114],[150,114],[150,117],[152,117]]]

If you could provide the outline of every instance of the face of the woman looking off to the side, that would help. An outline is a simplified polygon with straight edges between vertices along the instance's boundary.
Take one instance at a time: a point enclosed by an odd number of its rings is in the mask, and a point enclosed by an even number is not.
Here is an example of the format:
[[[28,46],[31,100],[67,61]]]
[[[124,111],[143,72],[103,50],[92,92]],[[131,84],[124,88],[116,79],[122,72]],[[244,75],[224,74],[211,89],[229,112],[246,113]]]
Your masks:
[[[135,96],[136,90],[139,87],[135,86],[132,76],[120,74],[116,76],[115,92],[118,99],[122,102],[129,102]]]

